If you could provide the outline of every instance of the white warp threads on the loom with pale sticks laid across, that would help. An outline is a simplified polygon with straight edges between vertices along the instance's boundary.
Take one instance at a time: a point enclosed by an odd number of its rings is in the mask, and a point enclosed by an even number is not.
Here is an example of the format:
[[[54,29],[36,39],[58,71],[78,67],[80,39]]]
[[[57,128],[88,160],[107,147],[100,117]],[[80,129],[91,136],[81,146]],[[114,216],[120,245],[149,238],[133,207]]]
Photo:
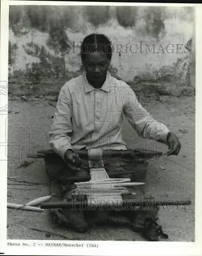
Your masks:
[[[75,182],[75,191],[80,195],[86,195],[89,205],[92,202],[96,205],[107,202],[121,204],[123,202],[122,195],[131,194],[128,187],[144,184],[143,182],[130,182],[130,179],[110,179],[104,168],[102,152],[91,149],[88,150],[88,156],[91,180]],[[93,166],[95,163],[96,167]]]

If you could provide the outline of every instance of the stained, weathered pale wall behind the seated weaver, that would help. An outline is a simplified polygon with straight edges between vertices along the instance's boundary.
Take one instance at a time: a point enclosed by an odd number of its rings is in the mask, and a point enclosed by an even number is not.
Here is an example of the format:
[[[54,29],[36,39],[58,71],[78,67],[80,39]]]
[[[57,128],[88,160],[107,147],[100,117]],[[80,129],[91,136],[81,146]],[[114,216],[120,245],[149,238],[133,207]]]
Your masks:
[[[104,33],[113,43],[111,65],[113,74],[120,79],[129,83],[172,83],[171,90],[176,91],[190,86],[195,51],[192,8],[49,6],[46,19],[40,6],[36,6],[34,14],[32,10],[32,15],[26,6],[10,8],[11,14],[20,13],[17,22],[10,22],[10,77],[15,77],[17,70],[33,73],[37,65],[40,69],[44,67],[44,72],[45,65],[52,67],[52,72],[56,72],[54,67],[58,65],[59,70],[64,68],[71,76],[77,76],[81,72],[79,45],[84,36],[96,32]],[[33,27],[37,15],[45,19],[42,23],[47,28]],[[60,23],[61,19],[65,19],[65,25]],[[57,24],[64,27],[61,31],[65,35],[58,31],[58,35],[50,38],[50,29],[53,26],[52,31],[56,31]],[[61,38],[68,45],[66,49],[61,48]]]

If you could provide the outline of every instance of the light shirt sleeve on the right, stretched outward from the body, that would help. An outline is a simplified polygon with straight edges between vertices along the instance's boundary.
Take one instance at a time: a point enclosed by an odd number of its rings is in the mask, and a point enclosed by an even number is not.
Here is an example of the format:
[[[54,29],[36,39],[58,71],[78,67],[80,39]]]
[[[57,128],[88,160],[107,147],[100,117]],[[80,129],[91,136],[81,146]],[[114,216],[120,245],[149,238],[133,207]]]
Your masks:
[[[139,136],[166,143],[169,129],[143,108],[131,88],[125,93],[123,112]]]

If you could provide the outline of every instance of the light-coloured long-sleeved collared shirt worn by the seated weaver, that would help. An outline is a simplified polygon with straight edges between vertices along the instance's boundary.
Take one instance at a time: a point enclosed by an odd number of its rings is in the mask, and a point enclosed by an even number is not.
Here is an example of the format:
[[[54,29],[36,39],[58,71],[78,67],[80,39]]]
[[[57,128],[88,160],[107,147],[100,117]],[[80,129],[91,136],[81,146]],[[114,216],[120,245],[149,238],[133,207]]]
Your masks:
[[[63,159],[70,148],[125,150],[123,115],[139,136],[166,141],[166,125],[143,108],[128,84],[107,72],[102,88],[96,89],[84,72],[66,82],[59,92],[49,132],[50,147]]]

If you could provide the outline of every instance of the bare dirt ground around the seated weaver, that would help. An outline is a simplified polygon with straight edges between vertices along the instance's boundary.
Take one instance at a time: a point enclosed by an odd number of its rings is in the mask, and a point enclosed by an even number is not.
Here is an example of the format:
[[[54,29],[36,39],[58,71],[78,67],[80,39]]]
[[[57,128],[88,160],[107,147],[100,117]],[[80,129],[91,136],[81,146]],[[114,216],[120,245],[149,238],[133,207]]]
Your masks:
[[[27,153],[49,148],[48,132],[55,108],[50,99],[12,99],[8,117],[8,202],[26,204],[40,196],[50,195],[47,184],[30,186],[23,181],[47,182],[43,159],[29,159],[33,163],[26,167],[20,163]],[[144,100],[144,108],[158,120],[167,124],[182,143],[178,156],[162,156],[148,165],[146,190],[159,199],[190,199],[192,205],[160,209],[159,223],[169,239],[165,241],[194,241],[194,197],[195,197],[195,97]],[[139,138],[125,122],[125,140],[128,147],[150,147],[166,152],[167,147]],[[21,181],[21,182],[17,182]],[[68,228],[58,228],[49,219],[47,211],[31,212],[8,209],[8,239],[65,239],[65,240],[119,240],[144,241],[129,227],[96,227],[86,234],[78,234]],[[32,230],[38,228],[42,232]],[[48,235],[47,232],[57,234]],[[58,234],[65,236],[60,237]],[[163,240],[162,240],[163,241]]]

